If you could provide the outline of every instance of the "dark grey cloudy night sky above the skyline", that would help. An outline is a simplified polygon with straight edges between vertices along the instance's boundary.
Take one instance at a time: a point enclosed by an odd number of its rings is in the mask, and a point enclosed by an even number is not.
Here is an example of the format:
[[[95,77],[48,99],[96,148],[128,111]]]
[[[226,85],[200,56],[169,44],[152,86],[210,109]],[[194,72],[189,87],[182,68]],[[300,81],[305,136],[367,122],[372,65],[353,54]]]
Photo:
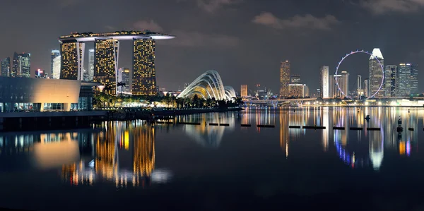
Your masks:
[[[177,36],[156,48],[158,85],[167,90],[213,69],[237,92],[256,83],[278,92],[286,59],[313,90],[320,66],[334,72],[355,49],[379,47],[385,65],[420,65],[423,11],[424,0],[1,0],[0,56],[29,52],[32,71],[49,70],[60,35],[148,29]],[[119,67],[131,67],[131,41],[121,47]],[[356,75],[367,77],[368,58],[351,56],[341,66],[351,89]]]

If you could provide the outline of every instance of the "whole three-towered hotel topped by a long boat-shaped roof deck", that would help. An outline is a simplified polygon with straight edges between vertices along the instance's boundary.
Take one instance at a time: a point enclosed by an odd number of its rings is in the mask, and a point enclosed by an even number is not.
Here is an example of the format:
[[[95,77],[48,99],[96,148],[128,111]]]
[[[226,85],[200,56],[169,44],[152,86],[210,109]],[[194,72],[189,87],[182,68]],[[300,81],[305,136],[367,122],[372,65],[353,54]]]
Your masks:
[[[94,77],[103,91],[117,95],[119,40],[133,42],[130,90],[132,95],[155,95],[155,42],[175,38],[150,31],[121,31],[107,33],[73,33],[59,37],[61,51],[60,79],[83,80],[86,42],[94,42]]]

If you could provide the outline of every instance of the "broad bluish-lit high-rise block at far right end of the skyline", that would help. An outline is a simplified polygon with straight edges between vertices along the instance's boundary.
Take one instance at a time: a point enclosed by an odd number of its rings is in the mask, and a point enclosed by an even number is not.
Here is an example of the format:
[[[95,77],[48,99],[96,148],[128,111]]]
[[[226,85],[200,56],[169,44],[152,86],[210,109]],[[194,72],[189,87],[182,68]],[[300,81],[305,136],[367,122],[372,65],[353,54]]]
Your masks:
[[[416,64],[399,64],[396,75],[396,96],[418,94],[418,68]]]

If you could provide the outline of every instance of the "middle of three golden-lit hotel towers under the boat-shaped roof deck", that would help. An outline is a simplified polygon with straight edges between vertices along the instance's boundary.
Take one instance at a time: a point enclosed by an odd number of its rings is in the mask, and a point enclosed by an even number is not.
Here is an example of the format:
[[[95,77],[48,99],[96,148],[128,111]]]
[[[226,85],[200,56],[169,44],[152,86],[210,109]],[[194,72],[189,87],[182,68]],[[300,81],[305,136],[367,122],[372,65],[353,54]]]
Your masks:
[[[118,40],[95,40],[94,81],[105,85],[108,95],[117,95]]]

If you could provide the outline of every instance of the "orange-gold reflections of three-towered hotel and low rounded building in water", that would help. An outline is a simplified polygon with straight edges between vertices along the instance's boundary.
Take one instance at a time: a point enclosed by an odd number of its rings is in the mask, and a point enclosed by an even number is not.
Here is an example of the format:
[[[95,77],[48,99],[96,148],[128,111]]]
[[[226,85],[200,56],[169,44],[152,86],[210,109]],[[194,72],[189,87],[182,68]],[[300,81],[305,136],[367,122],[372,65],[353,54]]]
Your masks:
[[[167,182],[170,172],[155,170],[155,128],[145,121],[104,122],[70,133],[0,135],[0,156],[30,155],[31,168],[61,169],[74,186],[113,183],[116,187]]]

